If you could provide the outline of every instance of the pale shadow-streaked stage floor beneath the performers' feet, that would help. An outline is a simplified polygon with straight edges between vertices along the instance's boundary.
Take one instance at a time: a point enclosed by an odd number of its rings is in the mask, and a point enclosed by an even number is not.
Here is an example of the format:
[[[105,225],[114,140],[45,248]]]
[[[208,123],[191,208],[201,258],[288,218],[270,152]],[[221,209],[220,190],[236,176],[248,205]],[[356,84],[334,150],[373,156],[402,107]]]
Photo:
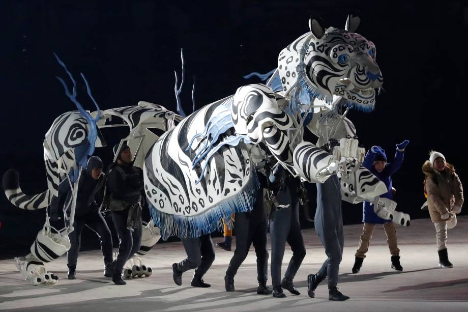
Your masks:
[[[383,229],[376,227],[361,272],[352,274],[354,253],[362,225],[345,226],[345,248],[340,267],[340,291],[351,297],[344,302],[328,301],[326,282],[317,288],[316,298],[307,296],[307,274],[315,273],[326,259],[313,229],[304,230],[307,255],[295,278],[300,296],[287,298],[257,295],[253,247],[236,278],[236,292],[224,290],[224,274],[232,252],[216,250],[216,260],[204,280],[208,289],[193,288],[193,272],[183,275],[183,286],[172,280],[171,264],[185,257],[180,242],[158,244],[145,263],[150,277],[127,280],[116,286],[103,277],[99,250],[81,252],[77,279],[66,279],[66,258],[47,265],[61,279],[53,286],[31,286],[16,272],[13,260],[0,261],[0,310],[14,311],[468,311],[468,217],[459,217],[449,230],[449,259],[452,269],[439,269],[435,230],[429,219],[412,221],[409,228],[397,228],[402,272],[390,269],[390,254]],[[221,238],[215,238],[220,241]],[[291,257],[286,246],[283,272]]]

